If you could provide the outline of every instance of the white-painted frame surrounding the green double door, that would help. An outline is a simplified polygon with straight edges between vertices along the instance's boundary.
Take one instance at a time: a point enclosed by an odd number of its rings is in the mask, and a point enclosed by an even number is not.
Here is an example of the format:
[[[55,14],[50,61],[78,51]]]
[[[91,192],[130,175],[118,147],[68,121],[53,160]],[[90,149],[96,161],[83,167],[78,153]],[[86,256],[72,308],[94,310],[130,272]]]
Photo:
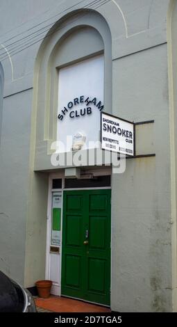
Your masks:
[[[98,170],[96,170],[97,172]],[[111,175],[104,174],[104,169],[101,170],[100,175]],[[52,181],[55,179],[62,179],[62,188],[61,189],[52,189]],[[112,183],[112,180],[111,182]],[[47,204],[47,242],[46,242],[46,266],[45,266],[45,278],[47,280],[51,279],[51,253],[50,253],[50,246],[51,246],[51,222],[52,222],[52,215],[51,215],[51,206],[52,206],[52,193],[61,191],[62,193],[62,207],[63,207],[63,191],[86,191],[86,190],[101,190],[101,189],[112,189],[111,184],[110,186],[102,186],[102,187],[82,187],[82,188],[73,188],[73,189],[65,189],[65,172],[62,170],[60,173],[51,173],[49,175],[49,191],[48,191],[48,204]],[[60,230],[60,253],[55,254],[58,257],[58,264],[60,266],[60,272],[58,276],[58,280],[53,282],[51,287],[51,294],[60,296],[61,295],[61,271],[62,271],[62,220],[63,220],[63,208],[61,208],[61,230]],[[110,290],[112,285],[112,208],[110,206]],[[70,297],[70,296],[69,296]],[[72,297],[71,297],[72,298]],[[84,301],[84,300],[83,300]],[[87,302],[87,301],[86,301]],[[98,303],[96,303],[98,304]]]

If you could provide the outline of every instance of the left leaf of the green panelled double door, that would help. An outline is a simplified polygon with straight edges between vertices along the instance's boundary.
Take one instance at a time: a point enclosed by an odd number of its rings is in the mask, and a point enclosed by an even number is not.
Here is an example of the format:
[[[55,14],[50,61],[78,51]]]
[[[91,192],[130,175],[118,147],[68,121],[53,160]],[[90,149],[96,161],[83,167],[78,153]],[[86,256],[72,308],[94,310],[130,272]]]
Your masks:
[[[62,294],[83,295],[83,194],[64,192],[62,222]]]

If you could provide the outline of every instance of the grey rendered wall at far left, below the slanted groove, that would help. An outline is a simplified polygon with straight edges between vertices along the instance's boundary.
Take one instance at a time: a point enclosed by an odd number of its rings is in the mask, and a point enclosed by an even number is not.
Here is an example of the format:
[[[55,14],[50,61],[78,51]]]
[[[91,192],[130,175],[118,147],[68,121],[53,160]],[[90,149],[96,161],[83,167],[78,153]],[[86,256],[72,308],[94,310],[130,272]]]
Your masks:
[[[3,99],[0,150],[1,269],[24,283],[32,90]]]

